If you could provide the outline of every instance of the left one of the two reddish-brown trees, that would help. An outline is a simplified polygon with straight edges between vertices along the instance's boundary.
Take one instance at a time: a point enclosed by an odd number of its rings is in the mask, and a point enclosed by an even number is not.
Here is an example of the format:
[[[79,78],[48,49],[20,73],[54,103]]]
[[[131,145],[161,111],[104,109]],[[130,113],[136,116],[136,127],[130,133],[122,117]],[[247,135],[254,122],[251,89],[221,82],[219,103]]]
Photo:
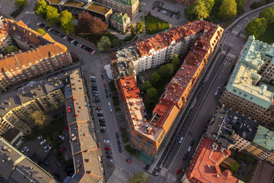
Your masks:
[[[92,16],[88,12],[81,12],[78,14],[77,27],[79,32],[87,33],[90,31]]]

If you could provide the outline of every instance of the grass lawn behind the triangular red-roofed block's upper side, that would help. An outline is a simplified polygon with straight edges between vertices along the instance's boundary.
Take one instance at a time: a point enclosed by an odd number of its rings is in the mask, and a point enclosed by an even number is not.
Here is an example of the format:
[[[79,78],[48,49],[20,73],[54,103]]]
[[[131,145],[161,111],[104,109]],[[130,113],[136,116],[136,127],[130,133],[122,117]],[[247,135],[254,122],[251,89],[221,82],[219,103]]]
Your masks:
[[[160,23],[160,29],[158,29],[158,24]],[[158,32],[162,32],[165,29],[169,29],[169,23],[163,21],[162,19],[158,19],[155,16],[147,15],[145,16],[145,28],[146,32],[149,35],[156,34]]]

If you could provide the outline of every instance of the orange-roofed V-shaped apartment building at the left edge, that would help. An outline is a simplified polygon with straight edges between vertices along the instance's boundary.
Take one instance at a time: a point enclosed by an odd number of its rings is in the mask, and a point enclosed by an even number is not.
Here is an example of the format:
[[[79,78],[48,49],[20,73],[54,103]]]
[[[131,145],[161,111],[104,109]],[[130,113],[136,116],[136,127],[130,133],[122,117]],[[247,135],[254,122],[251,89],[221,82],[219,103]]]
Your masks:
[[[31,80],[72,63],[64,45],[55,42],[49,34],[42,36],[23,21],[5,19],[0,31],[14,40],[20,50],[0,56],[0,92],[15,84]]]

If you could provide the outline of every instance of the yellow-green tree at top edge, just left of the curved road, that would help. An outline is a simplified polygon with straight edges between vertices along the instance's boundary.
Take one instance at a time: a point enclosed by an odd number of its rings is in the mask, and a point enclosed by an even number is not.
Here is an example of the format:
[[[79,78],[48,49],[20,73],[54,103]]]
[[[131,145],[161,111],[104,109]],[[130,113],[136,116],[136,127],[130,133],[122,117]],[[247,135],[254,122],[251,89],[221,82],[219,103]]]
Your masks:
[[[219,18],[222,20],[231,19],[237,14],[237,4],[235,0],[223,0],[219,8]]]

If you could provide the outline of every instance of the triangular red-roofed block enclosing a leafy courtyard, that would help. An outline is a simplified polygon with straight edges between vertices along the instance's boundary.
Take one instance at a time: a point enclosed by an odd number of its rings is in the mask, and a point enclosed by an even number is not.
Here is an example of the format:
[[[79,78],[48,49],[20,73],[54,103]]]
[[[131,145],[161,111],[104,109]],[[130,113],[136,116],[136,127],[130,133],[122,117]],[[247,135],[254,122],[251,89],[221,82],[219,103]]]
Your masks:
[[[186,100],[222,33],[223,29],[218,25],[196,21],[142,40],[110,55],[112,73],[127,114],[132,143],[137,149],[152,156],[158,152],[177,114],[186,105]],[[188,40],[185,41],[184,36]],[[196,42],[195,38],[198,38]],[[184,54],[189,49],[184,47],[186,45],[195,46],[164,89],[160,102],[153,110],[152,119],[147,119],[144,103],[136,86],[136,73],[166,62],[174,53]]]

